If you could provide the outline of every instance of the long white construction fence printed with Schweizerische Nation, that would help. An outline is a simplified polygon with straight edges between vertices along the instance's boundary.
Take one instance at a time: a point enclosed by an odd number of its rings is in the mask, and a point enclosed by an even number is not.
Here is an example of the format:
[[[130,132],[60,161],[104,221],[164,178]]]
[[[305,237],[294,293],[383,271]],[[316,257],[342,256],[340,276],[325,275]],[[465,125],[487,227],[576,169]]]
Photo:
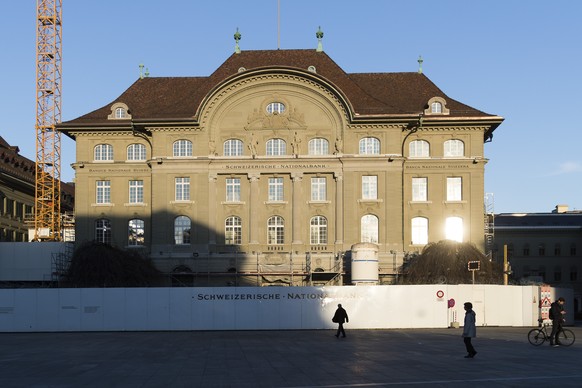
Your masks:
[[[569,289],[545,294],[572,301]],[[350,329],[446,328],[463,325],[467,301],[479,326],[536,326],[540,295],[497,285],[0,289],[0,331],[330,329],[338,303]]]

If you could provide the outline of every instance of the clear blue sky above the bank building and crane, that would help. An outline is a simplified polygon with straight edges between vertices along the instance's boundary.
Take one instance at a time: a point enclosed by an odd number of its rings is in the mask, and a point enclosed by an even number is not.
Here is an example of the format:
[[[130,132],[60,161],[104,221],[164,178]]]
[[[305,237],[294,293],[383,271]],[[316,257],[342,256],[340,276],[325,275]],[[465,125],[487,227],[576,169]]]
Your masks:
[[[414,72],[422,55],[447,96],[505,118],[485,144],[496,213],[582,210],[582,1],[280,0],[279,24],[277,0],[63,3],[63,121],[113,101],[140,63],[152,77],[210,75],[237,27],[242,50],[265,50],[315,49],[321,26],[346,72]],[[36,1],[2,13],[0,135],[35,160]],[[63,136],[63,180],[74,147]]]

